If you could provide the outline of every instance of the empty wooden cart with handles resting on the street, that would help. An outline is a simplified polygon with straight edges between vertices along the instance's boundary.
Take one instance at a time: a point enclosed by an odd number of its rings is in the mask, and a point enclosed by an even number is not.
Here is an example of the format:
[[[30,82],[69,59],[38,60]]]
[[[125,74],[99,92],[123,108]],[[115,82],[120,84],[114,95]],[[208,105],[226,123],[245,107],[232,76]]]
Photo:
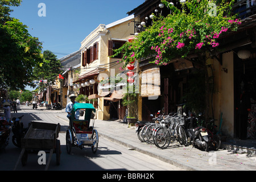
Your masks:
[[[29,150],[49,151],[45,170],[49,167],[53,152],[56,153],[56,164],[59,165],[61,153],[60,140],[57,139],[59,137],[59,131],[59,123],[31,122],[25,137],[21,140],[22,151],[20,152],[14,170],[18,166],[20,160],[22,161],[23,166],[26,165]]]

